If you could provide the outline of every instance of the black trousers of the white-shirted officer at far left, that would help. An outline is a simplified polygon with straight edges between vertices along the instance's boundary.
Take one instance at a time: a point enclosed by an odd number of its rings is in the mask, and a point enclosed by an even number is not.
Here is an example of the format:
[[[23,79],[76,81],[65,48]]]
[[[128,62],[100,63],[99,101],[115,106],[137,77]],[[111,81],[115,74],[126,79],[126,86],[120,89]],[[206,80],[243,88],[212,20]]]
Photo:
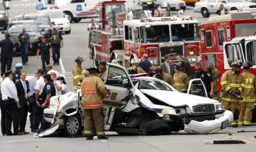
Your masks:
[[[19,111],[17,103],[14,99],[8,102],[3,101],[3,106],[5,110],[5,131],[7,135],[11,134],[11,122],[13,122],[13,133],[19,133]]]

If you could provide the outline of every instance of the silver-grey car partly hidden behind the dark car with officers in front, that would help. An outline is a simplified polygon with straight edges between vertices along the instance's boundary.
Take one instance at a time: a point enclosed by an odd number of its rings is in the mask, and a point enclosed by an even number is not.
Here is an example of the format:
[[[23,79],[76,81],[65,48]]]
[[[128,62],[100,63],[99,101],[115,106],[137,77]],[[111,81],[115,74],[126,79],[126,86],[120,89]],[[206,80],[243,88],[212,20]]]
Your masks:
[[[28,19],[33,19],[37,22],[41,34],[45,31],[46,28],[52,28],[53,29],[53,24],[54,22],[50,21],[50,17],[47,14],[39,14],[39,13],[31,13],[31,14],[23,14],[23,15],[16,15],[13,17],[12,21],[18,21],[18,20],[28,20]]]

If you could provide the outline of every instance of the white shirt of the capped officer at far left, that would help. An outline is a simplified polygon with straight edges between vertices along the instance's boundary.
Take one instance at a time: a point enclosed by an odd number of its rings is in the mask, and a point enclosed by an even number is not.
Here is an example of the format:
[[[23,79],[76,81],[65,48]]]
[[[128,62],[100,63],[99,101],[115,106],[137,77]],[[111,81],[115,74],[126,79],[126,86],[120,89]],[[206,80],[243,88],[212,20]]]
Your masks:
[[[6,77],[4,81],[2,81],[1,93],[2,93],[2,100],[7,100],[9,97],[9,98],[14,98],[16,102],[19,101],[16,86],[9,77]]]

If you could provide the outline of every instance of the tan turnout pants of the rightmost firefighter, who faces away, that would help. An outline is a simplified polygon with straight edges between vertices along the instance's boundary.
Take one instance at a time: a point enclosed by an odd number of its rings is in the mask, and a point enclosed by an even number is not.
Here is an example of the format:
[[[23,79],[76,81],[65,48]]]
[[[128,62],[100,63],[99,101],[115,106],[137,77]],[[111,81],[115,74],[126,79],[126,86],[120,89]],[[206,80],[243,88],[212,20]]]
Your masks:
[[[255,108],[254,102],[240,102],[239,126],[249,126],[252,121],[252,110]]]

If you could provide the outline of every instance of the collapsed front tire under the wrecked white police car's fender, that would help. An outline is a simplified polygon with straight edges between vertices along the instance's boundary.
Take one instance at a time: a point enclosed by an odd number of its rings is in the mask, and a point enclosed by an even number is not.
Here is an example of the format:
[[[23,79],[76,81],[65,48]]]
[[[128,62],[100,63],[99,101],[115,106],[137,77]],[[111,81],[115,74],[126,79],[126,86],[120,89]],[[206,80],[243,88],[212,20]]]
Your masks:
[[[167,135],[171,133],[171,128],[165,120],[152,120],[145,124],[145,132],[150,135]]]

